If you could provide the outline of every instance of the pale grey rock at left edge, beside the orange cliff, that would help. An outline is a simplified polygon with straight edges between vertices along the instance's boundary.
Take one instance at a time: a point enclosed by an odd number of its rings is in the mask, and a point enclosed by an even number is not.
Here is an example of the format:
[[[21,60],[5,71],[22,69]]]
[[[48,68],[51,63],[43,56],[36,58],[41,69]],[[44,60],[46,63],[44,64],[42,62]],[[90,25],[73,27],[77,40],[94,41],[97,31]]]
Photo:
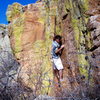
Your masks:
[[[12,54],[6,25],[0,25],[0,92],[6,86],[12,85],[18,63]]]

